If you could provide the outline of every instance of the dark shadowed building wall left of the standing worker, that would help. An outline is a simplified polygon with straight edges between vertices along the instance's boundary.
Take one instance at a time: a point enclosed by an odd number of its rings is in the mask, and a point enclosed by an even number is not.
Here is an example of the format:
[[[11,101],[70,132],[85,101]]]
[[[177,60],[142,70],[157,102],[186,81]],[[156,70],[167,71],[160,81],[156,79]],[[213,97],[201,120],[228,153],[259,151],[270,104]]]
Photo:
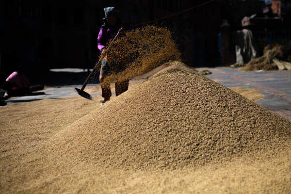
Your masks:
[[[49,68],[84,67],[86,49],[93,66],[98,55],[93,35],[99,32],[103,7],[120,2],[111,1],[5,1],[1,81],[17,65],[25,66],[32,76]]]

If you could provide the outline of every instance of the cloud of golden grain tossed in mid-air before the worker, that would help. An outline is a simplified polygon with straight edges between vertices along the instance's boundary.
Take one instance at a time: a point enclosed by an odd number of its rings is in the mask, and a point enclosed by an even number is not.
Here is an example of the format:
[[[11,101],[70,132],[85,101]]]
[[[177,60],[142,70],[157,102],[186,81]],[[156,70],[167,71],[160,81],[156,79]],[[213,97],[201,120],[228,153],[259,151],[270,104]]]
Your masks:
[[[144,74],[165,62],[178,60],[180,52],[169,30],[145,26],[125,32],[107,46],[110,76],[104,81],[124,81]],[[120,63],[129,61],[120,71]]]

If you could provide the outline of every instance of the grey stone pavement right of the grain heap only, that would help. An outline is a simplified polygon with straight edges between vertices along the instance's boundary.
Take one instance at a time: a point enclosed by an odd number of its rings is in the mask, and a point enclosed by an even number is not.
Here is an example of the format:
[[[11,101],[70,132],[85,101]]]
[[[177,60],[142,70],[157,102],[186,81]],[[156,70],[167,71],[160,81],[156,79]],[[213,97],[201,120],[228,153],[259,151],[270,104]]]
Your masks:
[[[265,95],[256,103],[285,118],[291,119],[291,71],[241,72],[236,68],[215,67],[207,69],[212,74],[205,77],[225,87],[258,89]]]

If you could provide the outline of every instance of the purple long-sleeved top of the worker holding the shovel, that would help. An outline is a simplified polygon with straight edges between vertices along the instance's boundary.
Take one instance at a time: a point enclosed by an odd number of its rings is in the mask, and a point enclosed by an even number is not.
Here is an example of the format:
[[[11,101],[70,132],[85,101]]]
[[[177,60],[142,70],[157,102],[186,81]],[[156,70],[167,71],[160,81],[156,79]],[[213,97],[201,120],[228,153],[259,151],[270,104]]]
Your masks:
[[[117,26],[102,26],[98,38],[97,38],[97,47],[101,50],[106,46],[106,44],[113,40],[118,32]]]

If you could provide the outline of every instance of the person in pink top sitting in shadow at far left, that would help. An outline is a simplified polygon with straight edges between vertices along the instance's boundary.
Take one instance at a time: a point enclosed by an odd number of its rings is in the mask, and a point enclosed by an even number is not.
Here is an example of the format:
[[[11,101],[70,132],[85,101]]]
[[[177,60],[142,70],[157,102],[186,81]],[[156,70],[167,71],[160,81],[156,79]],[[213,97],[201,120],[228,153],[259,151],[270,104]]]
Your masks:
[[[23,66],[18,66],[17,70],[4,81],[2,88],[7,91],[8,97],[12,97],[31,94],[33,91],[42,90],[44,86],[30,86],[30,82],[24,74]]]

